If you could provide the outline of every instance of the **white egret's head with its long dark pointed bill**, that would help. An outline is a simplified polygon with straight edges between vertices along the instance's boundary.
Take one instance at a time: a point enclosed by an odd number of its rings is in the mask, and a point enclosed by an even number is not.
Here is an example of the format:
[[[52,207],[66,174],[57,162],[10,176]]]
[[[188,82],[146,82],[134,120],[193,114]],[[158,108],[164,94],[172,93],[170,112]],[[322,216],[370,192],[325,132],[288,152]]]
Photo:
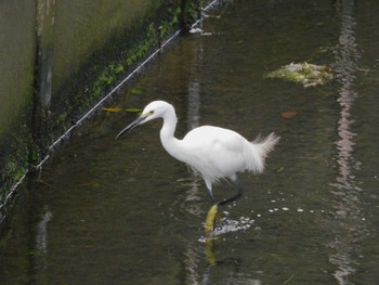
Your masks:
[[[134,129],[136,126],[145,124],[146,121],[154,120],[156,118],[161,118],[165,116],[165,113],[169,109],[173,108],[172,105],[165,101],[153,101],[149,103],[142,112],[140,117],[138,117],[134,121],[132,121],[127,128],[121,130],[116,139],[121,137],[127,131]]]

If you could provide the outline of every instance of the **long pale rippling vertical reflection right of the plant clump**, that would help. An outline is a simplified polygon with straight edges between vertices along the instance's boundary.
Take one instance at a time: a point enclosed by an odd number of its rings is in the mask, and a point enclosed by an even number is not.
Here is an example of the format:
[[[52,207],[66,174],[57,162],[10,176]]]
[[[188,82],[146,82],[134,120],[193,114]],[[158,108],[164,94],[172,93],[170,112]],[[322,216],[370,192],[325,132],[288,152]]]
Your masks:
[[[354,0],[336,1],[337,14],[340,18],[339,43],[335,48],[335,65],[338,89],[338,104],[340,105],[340,117],[338,120],[337,168],[338,176],[331,183],[335,218],[337,228],[335,239],[329,246],[334,254],[329,256],[329,261],[336,265],[334,273],[339,284],[350,284],[350,275],[356,271],[358,263],[354,257],[358,256],[360,235],[364,232],[358,193],[360,183],[354,177],[354,171],[358,169],[360,163],[354,157],[354,146],[356,133],[353,130],[354,118],[352,108],[354,102],[358,100],[355,89],[356,74],[360,62],[358,44],[355,41],[356,22],[354,18]]]

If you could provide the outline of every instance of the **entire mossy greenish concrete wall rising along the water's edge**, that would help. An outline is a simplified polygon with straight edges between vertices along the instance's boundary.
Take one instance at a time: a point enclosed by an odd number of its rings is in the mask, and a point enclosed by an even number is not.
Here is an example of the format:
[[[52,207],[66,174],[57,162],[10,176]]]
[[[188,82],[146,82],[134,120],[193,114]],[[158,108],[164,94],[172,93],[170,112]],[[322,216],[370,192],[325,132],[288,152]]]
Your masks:
[[[204,2],[0,1],[0,223],[49,146]]]

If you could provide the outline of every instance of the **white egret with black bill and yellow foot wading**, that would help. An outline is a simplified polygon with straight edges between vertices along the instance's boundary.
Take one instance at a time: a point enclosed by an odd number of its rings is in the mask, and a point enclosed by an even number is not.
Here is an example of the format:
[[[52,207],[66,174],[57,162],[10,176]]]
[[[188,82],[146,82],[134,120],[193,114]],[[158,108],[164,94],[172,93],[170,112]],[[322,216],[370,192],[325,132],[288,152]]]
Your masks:
[[[271,133],[263,140],[257,138],[249,142],[235,131],[202,126],[191,130],[182,140],[179,140],[174,138],[178,122],[174,107],[165,101],[154,101],[143,109],[140,117],[121,130],[116,139],[136,126],[157,118],[164,119],[160,141],[165,150],[178,160],[187,164],[195,172],[200,173],[207,185],[213,203],[206,221],[206,232],[209,233],[213,229],[218,206],[233,202],[243,195],[237,172],[262,172],[264,158],[278,142],[279,137]],[[233,181],[238,192],[228,199],[215,203],[212,184],[220,179]]]

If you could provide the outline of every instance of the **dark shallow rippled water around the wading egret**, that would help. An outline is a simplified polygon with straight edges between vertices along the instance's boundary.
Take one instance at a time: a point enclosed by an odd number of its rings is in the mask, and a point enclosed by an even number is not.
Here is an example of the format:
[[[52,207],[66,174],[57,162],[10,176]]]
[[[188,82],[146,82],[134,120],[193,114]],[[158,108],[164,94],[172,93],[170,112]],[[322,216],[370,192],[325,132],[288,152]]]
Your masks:
[[[2,284],[375,284],[379,278],[376,1],[225,1],[109,107],[174,104],[246,138],[275,131],[264,174],[202,224],[201,179],[159,142],[160,121],[115,135],[135,114],[102,112],[19,190],[0,243]],[[264,79],[291,62],[337,79],[304,89]],[[292,118],[280,116],[296,112]],[[215,186],[217,197],[233,193]]]

